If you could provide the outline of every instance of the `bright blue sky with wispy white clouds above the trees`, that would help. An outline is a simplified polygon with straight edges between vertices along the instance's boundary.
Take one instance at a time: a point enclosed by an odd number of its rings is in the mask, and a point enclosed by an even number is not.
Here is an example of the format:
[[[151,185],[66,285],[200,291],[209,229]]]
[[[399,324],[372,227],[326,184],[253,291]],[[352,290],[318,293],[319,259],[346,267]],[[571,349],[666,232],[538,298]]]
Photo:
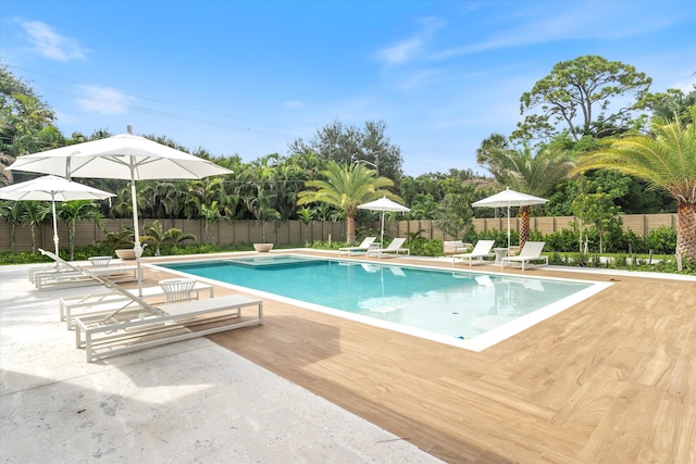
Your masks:
[[[384,121],[418,176],[472,168],[520,97],[561,61],[599,54],[696,81],[696,2],[0,2],[0,59],[65,135],[169,136],[245,162],[338,121]]]

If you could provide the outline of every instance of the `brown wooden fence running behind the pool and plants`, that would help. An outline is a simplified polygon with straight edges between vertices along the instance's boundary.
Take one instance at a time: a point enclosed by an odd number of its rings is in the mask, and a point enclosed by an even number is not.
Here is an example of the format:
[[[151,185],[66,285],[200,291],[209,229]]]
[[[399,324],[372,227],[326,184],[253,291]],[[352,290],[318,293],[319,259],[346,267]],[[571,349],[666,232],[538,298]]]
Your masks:
[[[661,226],[676,228],[676,214],[627,214],[622,215],[624,230],[632,229],[636,235],[647,235],[650,230]],[[304,225],[299,221],[286,221],[277,225],[266,223],[263,226],[260,221],[237,221],[234,223],[219,222],[211,224],[206,235],[203,221],[198,220],[159,220],[164,230],[176,227],[185,234],[192,234],[199,242],[213,244],[229,243],[256,243],[261,242],[263,235],[265,241],[277,244],[299,244],[311,243],[315,240],[346,241],[346,226],[343,222],[320,222],[314,221],[310,225]],[[557,230],[571,228],[575,222],[573,216],[562,217],[532,217],[531,227],[543,234],[551,234]],[[151,224],[153,220],[140,221],[140,235],[144,235],[144,225]],[[103,230],[117,231],[122,227],[132,226],[132,220],[103,220],[101,228],[91,221],[85,221],[76,225],[75,244],[83,247],[92,244],[104,239]],[[359,230],[372,229],[374,234],[380,230],[380,223],[358,224]],[[506,230],[508,220],[486,218],[474,220],[474,228],[481,230]],[[520,218],[510,220],[510,228],[519,230]],[[389,237],[406,237],[408,234],[421,231],[421,237],[426,239],[451,240],[450,237],[439,229],[434,221],[387,221],[385,223],[385,235]],[[58,224],[58,235],[61,248],[66,248],[67,226],[64,223]],[[17,226],[14,231],[16,251],[32,250],[32,229],[28,226]],[[53,228],[51,224],[38,226],[35,231],[36,247],[53,249]],[[0,251],[11,250],[11,225],[8,222],[0,222]]]

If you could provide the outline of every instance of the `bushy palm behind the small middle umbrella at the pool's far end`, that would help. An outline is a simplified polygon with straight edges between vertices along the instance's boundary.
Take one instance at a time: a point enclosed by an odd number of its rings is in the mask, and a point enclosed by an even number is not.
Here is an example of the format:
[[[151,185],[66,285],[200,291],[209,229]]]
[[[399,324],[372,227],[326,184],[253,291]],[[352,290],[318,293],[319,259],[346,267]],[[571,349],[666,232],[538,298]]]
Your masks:
[[[299,192],[298,204],[321,202],[344,211],[349,244],[356,241],[356,213],[359,204],[383,196],[401,201],[398,196],[383,190],[384,187],[391,187],[394,181],[386,177],[376,177],[376,172],[365,167],[363,163],[339,166],[335,162],[330,162],[322,175],[326,178],[325,180],[307,181],[307,187],[316,188],[316,190]]]

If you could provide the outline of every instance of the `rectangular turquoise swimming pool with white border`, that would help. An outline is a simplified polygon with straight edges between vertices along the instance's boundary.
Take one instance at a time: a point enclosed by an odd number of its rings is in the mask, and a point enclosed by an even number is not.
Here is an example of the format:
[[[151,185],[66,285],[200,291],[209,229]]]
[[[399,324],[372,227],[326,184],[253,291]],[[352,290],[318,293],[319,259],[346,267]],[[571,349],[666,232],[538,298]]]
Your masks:
[[[474,351],[607,286],[294,254],[160,266]]]

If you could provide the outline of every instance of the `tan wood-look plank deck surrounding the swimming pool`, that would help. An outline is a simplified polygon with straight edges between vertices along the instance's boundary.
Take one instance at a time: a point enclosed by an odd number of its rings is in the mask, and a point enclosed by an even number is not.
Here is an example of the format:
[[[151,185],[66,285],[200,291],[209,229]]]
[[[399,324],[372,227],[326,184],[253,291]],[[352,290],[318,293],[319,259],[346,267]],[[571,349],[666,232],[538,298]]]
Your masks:
[[[209,338],[446,462],[696,462],[695,283],[506,274],[613,285],[481,353],[270,299]]]

